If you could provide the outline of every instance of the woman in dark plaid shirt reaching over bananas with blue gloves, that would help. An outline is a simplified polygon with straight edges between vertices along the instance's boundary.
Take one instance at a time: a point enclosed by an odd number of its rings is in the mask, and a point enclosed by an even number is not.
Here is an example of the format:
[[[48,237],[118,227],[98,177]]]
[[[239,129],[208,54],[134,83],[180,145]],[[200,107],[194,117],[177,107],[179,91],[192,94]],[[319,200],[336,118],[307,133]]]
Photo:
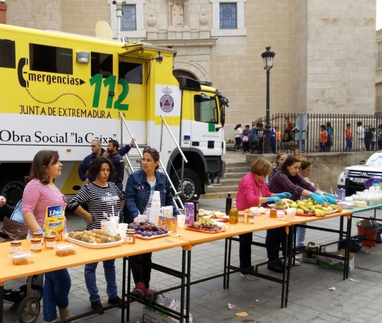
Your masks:
[[[297,201],[301,195],[310,196],[318,204],[335,203],[336,199],[331,194],[324,197],[321,191],[317,190],[313,185],[306,182],[299,174],[301,161],[295,156],[289,156],[282,168],[272,177],[269,182],[269,191],[273,193],[289,192],[291,199]],[[283,245],[285,241],[284,228],[271,229],[266,231],[265,243],[270,246],[266,249],[268,256],[267,268],[271,271],[282,273],[283,265],[279,261],[279,250],[277,248]],[[273,248],[272,248],[273,247]]]

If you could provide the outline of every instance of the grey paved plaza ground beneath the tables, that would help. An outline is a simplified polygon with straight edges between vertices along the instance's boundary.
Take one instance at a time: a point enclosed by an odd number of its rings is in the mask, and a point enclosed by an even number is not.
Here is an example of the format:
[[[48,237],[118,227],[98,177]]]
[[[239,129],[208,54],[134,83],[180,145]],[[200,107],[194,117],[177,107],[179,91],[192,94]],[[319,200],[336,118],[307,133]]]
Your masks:
[[[224,211],[224,199],[200,200],[200,207]],[[365,212],[372,215],[372,212]],[[382,216],[382,211],[377,215]],[[68,214],[69,229],[84,229],[82,218]],[[339,219],[328,219],[315,222],[314,225],[339,228]],[[356,233],[353,221],[352,232]],[[254,241],[264,242],[265,231],[255,232]],[[307,230],[306,242],[326,243],[334,241],[336,234]],[[333,245],[330,251],[335,251]],[[171,264],[180,269],[181,248],[169,249],[153,253],[153,261],[159,264]],[[349,279],[342,280],[342,272],[319,267],[315,264],[302,262],[291,270],[291,284],[289,303],[287,308],[280,308],[281,284],[259,279],[249,281],[239,274],[231,276],[230,288],[223,289],[223,278],[208,281],[191,287],[191,313],[195,323],[212,322],[380,322],[382,313],[380,304],[382,299],[382,245],[375,248],[362,247],[355,254],[355,268],[350,272]],[[266,260],[265,249],[252,247],[252,264]],[[198,245],[192,249],[192,280],[212,276],[223,272],[224,240]],[[238,244],[233,243],[232,263],[238,264]],[[122,259],[116,260],[118,286],[122,286]],[[76,313],[90,310],[88,293],[84,284],[84,267],[69,269],[72,277],[70,292],[70,308]],[[269,272],[266,266],[260,268],[260,273],[281,277],[281,274]],[[105,280],[102,265],[97,268],[98,287],[103,302],[107,301]],[[151,287],[157,290],[179,284],[177,279],[153,271]],[[335,291],[328,288],[335,287]],[[166,296],[179,299],[178,292]],[[228,303],[236,308],[228,309]],[[5,323],[17,322],[14,313],[5,305]],[[131,305],[130,322],[142,322],[143,305]],[[236,312],[245,311],[247,317],[236,317]],[[42,315],[36,320],[42,321]],[[120,309],[106,311],[103,315],[92,315],[81,322],[119,322]]]

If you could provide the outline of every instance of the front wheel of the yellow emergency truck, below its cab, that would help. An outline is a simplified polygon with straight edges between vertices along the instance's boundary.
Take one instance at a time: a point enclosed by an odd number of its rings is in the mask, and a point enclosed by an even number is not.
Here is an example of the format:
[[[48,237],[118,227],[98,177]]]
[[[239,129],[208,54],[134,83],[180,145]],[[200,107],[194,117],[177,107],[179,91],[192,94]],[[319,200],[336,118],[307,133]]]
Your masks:
[[[181,191],[180,198],[182,202],[192,202],[194,200],[194,195],[197,195],[199,199],[201,193],[201,182],[198,174],[196,174],[193,170],[184,169],[183,174],[183,184],[180,183],[181,178],[181,170],[177,170],[177,172],[172,173],[171,181],[173,182],[175,188]]]

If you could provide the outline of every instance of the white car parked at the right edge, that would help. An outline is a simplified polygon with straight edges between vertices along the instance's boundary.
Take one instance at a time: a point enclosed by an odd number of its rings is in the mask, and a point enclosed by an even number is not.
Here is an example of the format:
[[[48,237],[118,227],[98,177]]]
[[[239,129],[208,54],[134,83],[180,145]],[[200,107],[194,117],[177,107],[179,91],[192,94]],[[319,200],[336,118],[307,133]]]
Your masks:
[[[346,167],[337,180],[338,188],[346,189],[346,195],[363,191],[370,178],[382,178],[382,150],[373,153],[363,165]]]

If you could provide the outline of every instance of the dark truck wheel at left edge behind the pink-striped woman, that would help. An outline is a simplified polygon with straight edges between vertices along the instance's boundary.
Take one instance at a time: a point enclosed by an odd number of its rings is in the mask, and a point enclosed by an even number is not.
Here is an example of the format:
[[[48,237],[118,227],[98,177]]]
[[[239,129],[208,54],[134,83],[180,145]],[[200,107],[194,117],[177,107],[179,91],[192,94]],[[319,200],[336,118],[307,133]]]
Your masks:
[[[18,201],[23,197],[25,181],[22,176],[8,176],[0,181],[0,195],[7,199],[0,208],[0,218],[10,217]]]

